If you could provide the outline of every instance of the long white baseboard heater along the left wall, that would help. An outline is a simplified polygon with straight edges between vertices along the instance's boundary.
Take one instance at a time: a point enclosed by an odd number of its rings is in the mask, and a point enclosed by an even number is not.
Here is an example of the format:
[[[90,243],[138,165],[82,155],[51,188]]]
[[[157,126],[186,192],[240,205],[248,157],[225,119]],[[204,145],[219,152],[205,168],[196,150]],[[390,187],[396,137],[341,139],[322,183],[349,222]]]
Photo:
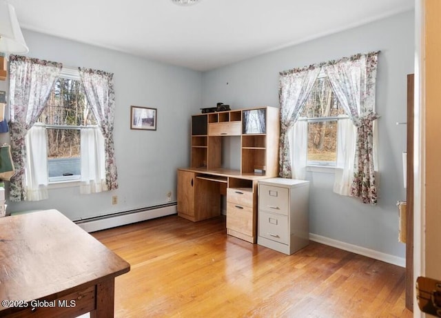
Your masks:
[[[107,228],[115,228],[116,226],[123,226],[130,223],[156,219],[156,217],[174,215],[176,213],[176,202],[170,202],[158,206],[150,206],[147,208],[139,208],[125,212],[116,212],[110,215],[103,215],[101,217],[90,217],[88,219],[74,221],[74,223],[76,223],[80,228],[83,228],[83,230],[86,232],[96,232],[99,230],[105,230]]]

